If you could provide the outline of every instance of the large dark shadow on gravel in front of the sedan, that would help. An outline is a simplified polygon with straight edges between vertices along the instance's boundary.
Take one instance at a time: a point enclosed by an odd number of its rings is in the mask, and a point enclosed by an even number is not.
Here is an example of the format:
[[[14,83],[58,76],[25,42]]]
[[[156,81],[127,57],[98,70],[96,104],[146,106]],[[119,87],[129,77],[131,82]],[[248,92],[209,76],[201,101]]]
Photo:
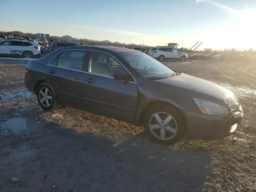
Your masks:
[[[38,118],[45,113],[29,113],[26,136],[11,135],[12,142],[2,146],[0,191],[50,191],[56,185],[57,191],[73,192],[191,192],[202,189],[210,171],[204,148],[164,146],[144,132],[116,142]],[[17,183],[10,182],[14,176]]]

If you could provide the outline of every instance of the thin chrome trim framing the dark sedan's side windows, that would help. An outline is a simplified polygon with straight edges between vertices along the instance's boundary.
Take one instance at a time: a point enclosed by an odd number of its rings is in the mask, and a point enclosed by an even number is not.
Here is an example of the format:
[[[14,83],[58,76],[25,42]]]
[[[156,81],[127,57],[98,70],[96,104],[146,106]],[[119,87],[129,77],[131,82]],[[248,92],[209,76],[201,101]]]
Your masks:
[[[104,53],[104,54],[108,54],[109,56],[113,57],[122,67],[124,67],[124,69],[132,76],[134,82],[132,81],[125,81],[125,82],[130,82],[130,83],[134,83],[134,84],[137,84],[137,81],[136,79],[134,78],[134,76],[130,73],[130,71],[115,57],[115,56],[112,56],[111,54],[109,53],[106,53],[106,52],[103,52],[103,51],[99,51],[99,50],[91,50],[91,49],[65,49],[65,50],[62,50],[62,51],[66,51],[66,50],[86,50],[86,51],[97,51],[97,52],[101,52],[101,53]],[[60,66],[54,66],[54,65],[49,65],[49,63],[57,56],[59,55],[62,51],[58,52],[58,54],[56,54],[49,62],[48,62],[48,66],[53,66],[53,67],[58,67],[58,68],[63,68],[63,69],[67,69],[67,70],[74,70],[74,71],[79,71],[79,72],[84,72],[84,73],[88,73],[88,74],[93,74],[93,75],[98,75],[98,76],[102,76],[102,77],[107,77],[107,78],[111,78],[111,79],[115,79],[113,77],[108,77],[108,76],[103,76],[103,75],[99,75],[99,74],[94,74],[94,73],[90,73],[90,72],[86,72],[86,71],[82,71],[82,70],[75,70],[75,69],[70,69],[70,68],[64,68],[64,67],[60,67]],[[122,80],[124,81],[124,80]]]

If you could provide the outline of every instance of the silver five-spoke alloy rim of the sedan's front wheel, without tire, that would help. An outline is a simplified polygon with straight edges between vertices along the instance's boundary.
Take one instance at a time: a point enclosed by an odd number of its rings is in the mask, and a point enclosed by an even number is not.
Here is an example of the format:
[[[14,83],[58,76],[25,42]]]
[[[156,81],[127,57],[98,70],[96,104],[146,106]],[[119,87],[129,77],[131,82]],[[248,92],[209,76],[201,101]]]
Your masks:
[[[166,112],[154,113],[148,123],[150,132],[160,140],[170,140],[178,132],[176,120]]]

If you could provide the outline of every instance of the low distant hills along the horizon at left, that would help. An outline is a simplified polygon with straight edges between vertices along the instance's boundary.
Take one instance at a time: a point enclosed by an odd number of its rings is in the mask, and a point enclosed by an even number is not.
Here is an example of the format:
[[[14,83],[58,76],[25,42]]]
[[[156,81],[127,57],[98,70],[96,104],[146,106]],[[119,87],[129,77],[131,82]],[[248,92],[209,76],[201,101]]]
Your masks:
[[[32,39],[40,38],[40,33],[32,34],[32,33],[23,33],[20,31],[9,31],[9,32],[4,32],[0,31],[1,33],[5,34],[12,34],[15,37],[19,36],[29,36]],[[120,43],[120,42],[111,42],[110,40],[103,40],[103,41],[98,41],[98,40],[92,40],[92,39],[78,39],[78,38],[73,38],[70,35],[64,35],[62,37],[60,36],[51,36],[48,39],[55,39],[55,40],[60,40],[60,41],[72,41],[72,42],[83,42],[86,44],[90,45],[110,45],[110,46],[137,46],[136,44],[125,44],[125,43]],[[138,45],[139,47],[142,47],[142,45]],[[144,48],[147,48],[148,46],[144,46]]]

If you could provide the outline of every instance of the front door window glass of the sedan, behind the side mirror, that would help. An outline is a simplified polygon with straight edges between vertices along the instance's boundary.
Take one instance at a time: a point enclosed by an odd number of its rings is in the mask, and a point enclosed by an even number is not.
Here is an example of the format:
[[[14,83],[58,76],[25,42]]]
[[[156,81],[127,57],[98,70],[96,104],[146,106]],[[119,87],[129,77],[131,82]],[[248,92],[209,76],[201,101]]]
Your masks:
[[[113,77],[114,72],[126,71],[112,56],[91,51],[88,72],[106,77]]]

